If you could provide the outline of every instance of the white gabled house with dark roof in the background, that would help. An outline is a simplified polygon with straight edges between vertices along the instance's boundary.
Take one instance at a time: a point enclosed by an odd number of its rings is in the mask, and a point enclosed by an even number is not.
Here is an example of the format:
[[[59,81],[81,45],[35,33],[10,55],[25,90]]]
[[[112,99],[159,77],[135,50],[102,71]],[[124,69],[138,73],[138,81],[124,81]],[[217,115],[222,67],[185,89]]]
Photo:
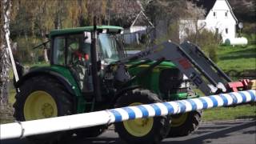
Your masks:
[[[236,25],[238,19],[235,17],[230,3],[227,0],[193,0],[197,6],[206,10],[206,17],[198,20],[198,29],[206,28],[214,33],[222,35],[222,42],[236,37]],[[179,26],[179,38],[181,42],[190,32],[195,31],[193,20],[181,20]]]

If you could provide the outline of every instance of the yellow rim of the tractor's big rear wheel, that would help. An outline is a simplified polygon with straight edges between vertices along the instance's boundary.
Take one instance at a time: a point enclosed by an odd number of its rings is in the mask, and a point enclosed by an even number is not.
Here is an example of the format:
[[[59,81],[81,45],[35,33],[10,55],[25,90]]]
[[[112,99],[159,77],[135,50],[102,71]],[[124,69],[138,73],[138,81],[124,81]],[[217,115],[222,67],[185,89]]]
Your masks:
[[[26,121],[58,116],[54,98],[42,90],[34,91],[26,98],[23,112]]]

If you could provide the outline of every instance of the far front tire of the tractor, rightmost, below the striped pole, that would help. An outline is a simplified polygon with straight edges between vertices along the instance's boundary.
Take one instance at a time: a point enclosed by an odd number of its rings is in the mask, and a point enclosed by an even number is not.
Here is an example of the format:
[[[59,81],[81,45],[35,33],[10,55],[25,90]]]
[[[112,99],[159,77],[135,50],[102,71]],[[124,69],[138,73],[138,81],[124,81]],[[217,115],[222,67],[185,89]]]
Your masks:
[[[172,118],[170,123],[170,132],[168,134],[168,137],[182,137],[190,134],[195,130],[198,130],[198,126],[202,121],[202,110],[191,111],[185,114],[176,114],[171,117]],[[176,120],[174,120],[174,118]],[[178,123],[178,119],[184,120],[181,120],[183,122]]]

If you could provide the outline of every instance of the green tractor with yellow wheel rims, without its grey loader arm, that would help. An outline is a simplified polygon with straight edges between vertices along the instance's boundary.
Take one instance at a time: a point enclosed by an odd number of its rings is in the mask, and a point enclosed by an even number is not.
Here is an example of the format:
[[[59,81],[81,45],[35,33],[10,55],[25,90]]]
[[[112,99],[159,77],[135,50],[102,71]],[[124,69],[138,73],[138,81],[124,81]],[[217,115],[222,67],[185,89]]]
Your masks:
[[[18,121],[81,114],[198,97],[170,61],[126,58],[122,27],[86,26],[50,31],[50,66],[30,68],[15,87]],[[201,111],[114,123],[128,143],[157,143],[198,128]],[[71,135],[97,137],[108,126],[30,136],[37,143]]]

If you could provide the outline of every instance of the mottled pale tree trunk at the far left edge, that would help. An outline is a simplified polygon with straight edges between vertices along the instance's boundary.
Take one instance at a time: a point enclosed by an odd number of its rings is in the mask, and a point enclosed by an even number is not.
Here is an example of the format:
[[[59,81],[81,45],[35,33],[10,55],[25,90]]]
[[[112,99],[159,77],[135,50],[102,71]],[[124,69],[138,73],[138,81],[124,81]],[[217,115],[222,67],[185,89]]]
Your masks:
[[[8,106],[8,82],[10,70],[10,57],[6,44],[6,34],[9,37],[10,30],[10,0],[1,2],[1,46],[0,46],[0,111]]]

